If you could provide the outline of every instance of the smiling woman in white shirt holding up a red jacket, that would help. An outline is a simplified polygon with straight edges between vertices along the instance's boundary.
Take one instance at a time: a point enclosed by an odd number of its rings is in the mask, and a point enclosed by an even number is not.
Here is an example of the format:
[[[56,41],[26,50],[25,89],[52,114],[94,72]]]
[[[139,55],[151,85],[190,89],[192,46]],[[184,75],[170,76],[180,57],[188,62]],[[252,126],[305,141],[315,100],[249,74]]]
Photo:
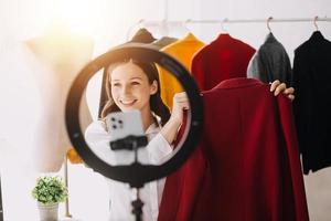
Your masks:
[[[110,150],[111,131],[107,131],[105,118],[113,112],[138,109],[141,113],[143,130],[149,138],[148,146],[138,150],[138,160],[142,164],[162,164],[172,152],[171,144],[182,124],[183,110],[190,108],[186,94],[174,95],[170,115],[160,96],[160,83],[156,66],[134,60],[109,66],[106,91],[108,102],[102,113],[103,120],[90,124],[85,133],[85,139],[92,150],[111,165],[132,162],[134,152]],[[286,88],[279,82],[274,82],[270,91],[275,91],[275,95],[282,92],[290,99],[293,98],[292,88]],[[110,179],[107,181],[110,193],[109,220],[134,220],[135,217],[131,213],[134,194],[129,186]],[[140,190],[140,198],[145,203],[142,220],[154,221],[158,219],[164,181],[166,179],[161,179],[146,183]]]

